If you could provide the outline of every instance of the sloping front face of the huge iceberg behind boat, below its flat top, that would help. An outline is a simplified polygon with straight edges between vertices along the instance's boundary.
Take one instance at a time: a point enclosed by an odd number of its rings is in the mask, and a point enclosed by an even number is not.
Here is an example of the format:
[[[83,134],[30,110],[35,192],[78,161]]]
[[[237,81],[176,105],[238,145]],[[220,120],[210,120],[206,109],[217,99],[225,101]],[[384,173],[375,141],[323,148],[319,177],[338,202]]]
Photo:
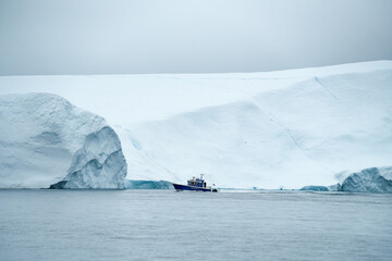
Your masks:
[[[172,182],[205,173],[221,187],[335,184],[335,173],[391,163],[391,87],[392,70],[311,77],[133,124],[120,132],[128,170]]]

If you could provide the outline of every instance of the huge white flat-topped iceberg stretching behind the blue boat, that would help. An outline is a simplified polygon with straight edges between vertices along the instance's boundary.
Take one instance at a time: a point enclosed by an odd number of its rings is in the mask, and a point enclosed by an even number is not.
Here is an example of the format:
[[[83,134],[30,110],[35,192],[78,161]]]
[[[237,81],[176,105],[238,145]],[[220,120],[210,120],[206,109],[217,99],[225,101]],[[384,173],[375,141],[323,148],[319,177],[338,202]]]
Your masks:
[[[107,119],[128,179],[219,187],[328,186],[392,165],[392,61],[267,73],[3,76]]]

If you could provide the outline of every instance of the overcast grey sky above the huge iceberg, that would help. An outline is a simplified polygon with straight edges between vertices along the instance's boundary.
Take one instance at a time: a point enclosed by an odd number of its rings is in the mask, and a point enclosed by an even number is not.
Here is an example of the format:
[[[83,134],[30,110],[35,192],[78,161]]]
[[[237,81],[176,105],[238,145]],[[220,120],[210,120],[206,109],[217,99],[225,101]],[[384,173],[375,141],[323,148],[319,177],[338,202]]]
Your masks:
[[[258,72],[391,59],[390,0],[0,0],[0,75]]]

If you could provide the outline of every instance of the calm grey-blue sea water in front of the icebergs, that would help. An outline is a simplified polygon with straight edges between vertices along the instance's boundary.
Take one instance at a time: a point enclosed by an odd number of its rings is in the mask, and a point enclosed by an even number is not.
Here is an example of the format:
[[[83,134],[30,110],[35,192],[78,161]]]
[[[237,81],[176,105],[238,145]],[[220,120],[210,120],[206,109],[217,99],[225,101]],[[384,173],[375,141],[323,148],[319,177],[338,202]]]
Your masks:
[[[392,260],[392,195],[0,190],[0,260]]]

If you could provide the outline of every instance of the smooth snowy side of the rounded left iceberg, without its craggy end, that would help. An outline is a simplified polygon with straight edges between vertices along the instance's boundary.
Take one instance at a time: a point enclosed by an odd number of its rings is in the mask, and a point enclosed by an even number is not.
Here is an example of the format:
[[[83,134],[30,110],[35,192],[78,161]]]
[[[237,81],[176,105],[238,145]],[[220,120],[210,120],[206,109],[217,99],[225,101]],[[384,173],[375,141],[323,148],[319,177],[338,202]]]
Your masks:
[[[45,188],[63,179],[86,136],[108,125],[50,94],[0,96],[0,188]]]

